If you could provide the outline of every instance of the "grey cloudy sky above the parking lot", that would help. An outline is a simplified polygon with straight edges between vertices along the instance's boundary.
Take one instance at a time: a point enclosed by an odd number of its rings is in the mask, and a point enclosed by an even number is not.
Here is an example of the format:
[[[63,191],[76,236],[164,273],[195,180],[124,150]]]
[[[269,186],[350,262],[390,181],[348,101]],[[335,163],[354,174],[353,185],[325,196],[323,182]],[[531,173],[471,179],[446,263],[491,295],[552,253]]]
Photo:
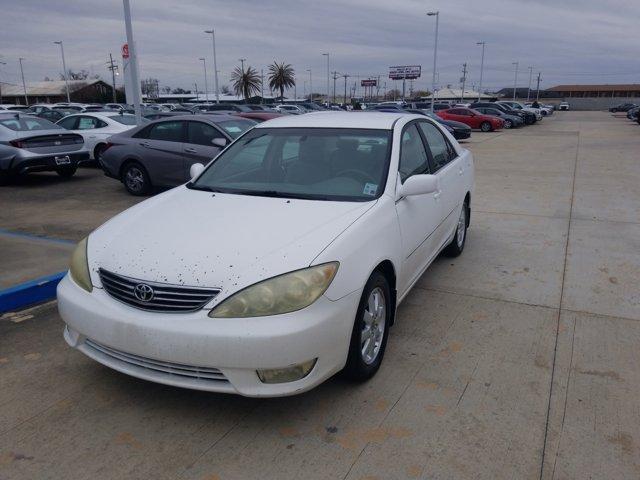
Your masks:
[[[126,35],[120,0],[0,0],[0,81],[20,82],[23,57],[27,82],[58,77],[59,47],[67,66],[109,78],[109,53],[120,62]],[[435,17],[440,11],[439,84],[459,86],[462,64],[477,85],[481,47],[486,42],[484,86],[561,83],[640,83],[639,0],[131,0],[141,77],[161,86],[204,84],[206,57],[213,72],[211,37],[216,29],[222,85],[239,58],[258,69],[291,63],[298,93],[312,70],[314,91],[326,89],[331,70],[362,77],[381,75],[391,65],[422,65],[415,88],[431,83]],[[350,79],[353,82],[354,79]],[[387,87],[392,82],[386,79]],[[211,81],[209,82],[212,83]],[[340,82],[344,88],[344,83]],[[308,89],[308,84],[306,86]],[[213,87],[210,86],[212,90]],[[308,90],[307,90],[308,91]]]

